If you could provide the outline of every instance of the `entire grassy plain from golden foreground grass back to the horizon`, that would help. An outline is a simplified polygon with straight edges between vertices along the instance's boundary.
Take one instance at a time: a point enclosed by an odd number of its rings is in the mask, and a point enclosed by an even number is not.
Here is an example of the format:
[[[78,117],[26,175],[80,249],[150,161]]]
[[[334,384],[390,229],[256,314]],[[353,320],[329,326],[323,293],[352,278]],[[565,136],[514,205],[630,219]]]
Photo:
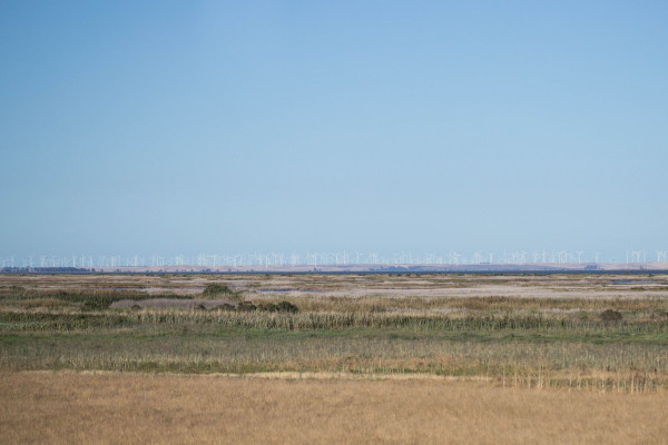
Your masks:
[[[667,278],[2,275],[0,429],[17,443],[661,443]]]

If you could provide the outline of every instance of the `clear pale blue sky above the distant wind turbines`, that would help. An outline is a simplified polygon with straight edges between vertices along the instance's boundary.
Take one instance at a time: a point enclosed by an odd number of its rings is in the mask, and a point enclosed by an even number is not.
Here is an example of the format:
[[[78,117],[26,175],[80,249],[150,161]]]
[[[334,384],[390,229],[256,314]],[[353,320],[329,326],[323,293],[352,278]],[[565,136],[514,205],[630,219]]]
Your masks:
[[[666,1],[2,1],[0,256],[668,249]]]

